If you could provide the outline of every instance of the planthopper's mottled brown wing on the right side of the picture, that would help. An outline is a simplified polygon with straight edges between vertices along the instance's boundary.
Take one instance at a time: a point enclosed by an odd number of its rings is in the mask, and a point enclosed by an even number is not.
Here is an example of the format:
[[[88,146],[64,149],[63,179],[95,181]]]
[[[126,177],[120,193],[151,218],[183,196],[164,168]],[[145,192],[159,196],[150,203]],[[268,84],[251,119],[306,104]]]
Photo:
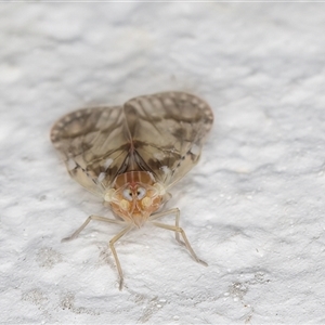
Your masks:
[[[165,92],[132,99],[123,109],[140,169],[152,171],[166,188],[198,161],[213,122],[205,101]]]

